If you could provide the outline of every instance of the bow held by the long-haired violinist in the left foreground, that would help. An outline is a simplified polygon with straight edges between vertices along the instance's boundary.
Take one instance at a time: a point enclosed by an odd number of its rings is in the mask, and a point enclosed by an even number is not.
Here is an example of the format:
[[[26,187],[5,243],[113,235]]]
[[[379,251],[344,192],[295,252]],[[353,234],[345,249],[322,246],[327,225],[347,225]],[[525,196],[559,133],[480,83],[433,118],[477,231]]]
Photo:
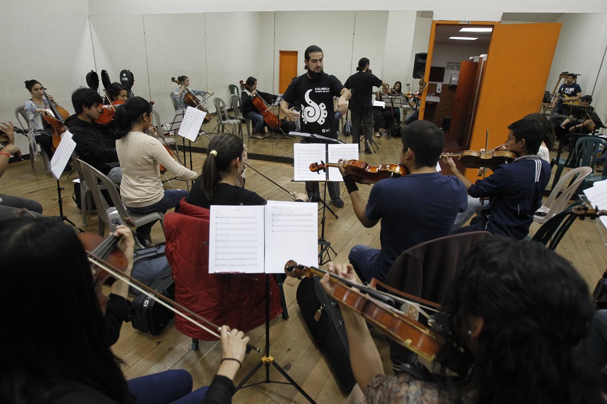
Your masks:
[[[97,265],[102,270],[107,271],[107,273],[114,276],[116,279],[126,282],[127,285],[132,286],[133,288],[140,291],[141,293],[148,294],[149,297],[154,299],[160,305],[168,308],[169,310],[171,310],[173,313],[177,314],[178,316],[183,317],[184,319],[188,320],[192,324],[205,330],[212,336],[215,336],[215,337],[221,339],[221,335],[219,334],[219,332],[221,330],[220,326],[210,322],[209,320],[206,320],[205,318],[200,316],[200,314],[197,314],[194,311],[189,310],[189,308],[187,308],[186,306],[180,305],[179,303],[174,302],[173,300],[169,299],[168,297],[163,296],[162,294],[153,290],[152,288],[145,285],[144,283],[141,283],[139,280],[135,279],[134,277],[121,273],[118,270],[115,270],[114,267],[109,265],[104,260],[101,260],[98,257],[94,256],[93,254],[87,253],[87,255],[89,256],[89,262]],[[179,310],[177,310],[177,308]],[[205,325],[203,325],[203,323]],[[254,345],[251,345],[251,344],[247,344],[247,348],[252,349],[253,351],[257,351],[258,353],[262,352],[261,349],[257,348]]]

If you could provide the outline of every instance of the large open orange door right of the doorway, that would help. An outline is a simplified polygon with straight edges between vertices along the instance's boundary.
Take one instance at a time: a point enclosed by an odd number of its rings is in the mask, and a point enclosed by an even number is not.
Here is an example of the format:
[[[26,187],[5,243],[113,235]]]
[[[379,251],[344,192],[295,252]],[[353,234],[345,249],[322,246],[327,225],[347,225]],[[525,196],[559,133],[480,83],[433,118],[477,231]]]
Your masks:
[[[540,111],[560,22],[495,25],[472,126],[470,149],[489,148],[506,141],[507,126]],[[476,170],[466,170],[474,180]],[[473,172],[472,172],[473,171]]]

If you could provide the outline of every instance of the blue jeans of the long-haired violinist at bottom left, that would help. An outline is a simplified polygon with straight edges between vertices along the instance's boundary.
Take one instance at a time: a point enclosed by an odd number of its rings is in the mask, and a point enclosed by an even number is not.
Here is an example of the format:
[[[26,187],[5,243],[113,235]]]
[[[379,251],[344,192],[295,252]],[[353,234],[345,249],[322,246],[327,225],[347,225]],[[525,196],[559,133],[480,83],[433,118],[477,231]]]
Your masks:
[[[192,391],[192,376],[183,369],[135,377],[127,380],[129,392],[137,396],[136,404],[200,403],[209,386]]]

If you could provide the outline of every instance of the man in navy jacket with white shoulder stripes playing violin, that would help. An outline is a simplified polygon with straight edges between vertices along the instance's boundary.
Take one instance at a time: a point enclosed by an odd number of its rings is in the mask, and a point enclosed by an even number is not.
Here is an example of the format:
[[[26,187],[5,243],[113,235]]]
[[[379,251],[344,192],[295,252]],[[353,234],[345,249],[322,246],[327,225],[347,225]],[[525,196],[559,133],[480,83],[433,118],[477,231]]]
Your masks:
[[[506,150],[518,158],[510,164],[502,164],[486,179],[472,184],[459,173],[450,157],[443,157],[447,168],[468,188],[475,198],[489,197],[489,208],[481,216],[473,217],[469,226],[453,233],[486,230],[523,239],[529,233],[535,211],[541,207],[544,188],[550,180],[550,165],[537,156],[543,138],[540,123],[523,118],[508,129]]]

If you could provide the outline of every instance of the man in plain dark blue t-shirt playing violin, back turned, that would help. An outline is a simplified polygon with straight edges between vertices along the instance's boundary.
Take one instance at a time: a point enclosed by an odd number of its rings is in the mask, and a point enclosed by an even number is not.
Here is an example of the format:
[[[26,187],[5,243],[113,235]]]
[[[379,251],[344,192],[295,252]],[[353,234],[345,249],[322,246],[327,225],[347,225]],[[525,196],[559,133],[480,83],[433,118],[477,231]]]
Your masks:
[[[409,174],[377,182],[365,202],[348,176],[344,185],[352,207],[364,227],[381,220],[381,250],[356,245],[348,259],[364,282],[382,282],[394,260],[414,245],[447,236],[455,217],[467,207],[466,187],[456,177],[436,171],[443,152],[443,131],[429,121],[415,121],[402,128],[400,165]],[[342,175],[345,171],[342,170]]]

